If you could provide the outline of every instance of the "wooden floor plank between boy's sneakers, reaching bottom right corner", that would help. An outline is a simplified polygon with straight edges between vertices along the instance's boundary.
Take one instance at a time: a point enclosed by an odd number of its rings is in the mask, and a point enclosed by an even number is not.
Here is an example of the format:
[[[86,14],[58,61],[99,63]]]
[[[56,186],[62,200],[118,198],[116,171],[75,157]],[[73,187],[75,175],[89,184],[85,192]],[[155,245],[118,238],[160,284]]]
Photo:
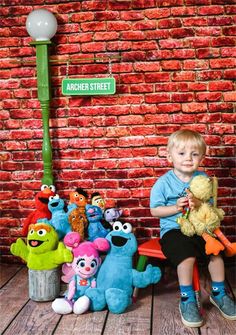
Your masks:
[[[201,280],[201,301],[203,306],[204,325],[201,327],[201,335],[234,335],[235,321],[226,320],[219,310],[210,303],[211,280],[209,274],[205,274]]]

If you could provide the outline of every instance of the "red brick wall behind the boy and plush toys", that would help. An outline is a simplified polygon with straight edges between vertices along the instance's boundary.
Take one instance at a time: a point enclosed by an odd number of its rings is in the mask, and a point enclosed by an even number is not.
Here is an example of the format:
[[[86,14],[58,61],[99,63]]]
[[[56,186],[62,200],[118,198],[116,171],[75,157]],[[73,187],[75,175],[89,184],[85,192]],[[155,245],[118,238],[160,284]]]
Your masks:
[[[170,133],[190,127],[209,146],[204,166],[219,177],[223,227],[235,239],[235,13],[234,0],[66,1],[3,0],[1,58],[1,228],[4,261],[34,208],[42,177],[42,120],[37,100],[35,48],[25,29],[37,7],[55,13],[51,58],[82,58],[70,77],[106,76],[117,55],[114,96],[65,97],[63,63],[52,65],[50,132],[58,193],[100,191],[125,210],[139,237],[158,233],[149,192],[167,171]]]

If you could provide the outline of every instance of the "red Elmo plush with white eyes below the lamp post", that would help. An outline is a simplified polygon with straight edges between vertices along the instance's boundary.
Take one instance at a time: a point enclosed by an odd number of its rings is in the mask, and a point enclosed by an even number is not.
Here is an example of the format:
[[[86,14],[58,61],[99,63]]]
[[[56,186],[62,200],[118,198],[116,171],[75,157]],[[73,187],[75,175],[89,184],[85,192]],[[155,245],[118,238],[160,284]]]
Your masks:
[[[23,228],[22,236],[27,236],[29,225],[36,223],[39,219],[51,219],[51,212],[48,209],[49,197],[55,195],[54,185],[42,185],[40,192],[35,196],[35,210],[26,218]]]

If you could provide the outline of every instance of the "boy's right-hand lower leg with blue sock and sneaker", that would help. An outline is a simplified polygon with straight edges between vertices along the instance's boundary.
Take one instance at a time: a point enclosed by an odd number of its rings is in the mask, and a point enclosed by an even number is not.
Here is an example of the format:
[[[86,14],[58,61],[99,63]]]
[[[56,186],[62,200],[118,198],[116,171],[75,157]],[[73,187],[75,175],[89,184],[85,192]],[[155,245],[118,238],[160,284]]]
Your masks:
[[[224,318],[236,320],[236,303],[225,292],[225,268],[222,257],[212,256],[208,268],[212,279],[210,302],[219,309]]]

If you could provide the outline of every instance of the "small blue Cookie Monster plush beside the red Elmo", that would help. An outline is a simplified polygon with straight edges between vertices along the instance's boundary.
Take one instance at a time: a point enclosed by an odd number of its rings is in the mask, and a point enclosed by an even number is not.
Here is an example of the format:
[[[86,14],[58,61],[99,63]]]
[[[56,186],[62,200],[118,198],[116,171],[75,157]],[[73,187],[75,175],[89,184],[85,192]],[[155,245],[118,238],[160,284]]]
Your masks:
[[[48,209],[52,213],[52,218],[49,223],[55,228],[59,240],[71,231],[71,226],[68,221],[68,215],[64,210],[65,202],[56,194],[49,198]]]

